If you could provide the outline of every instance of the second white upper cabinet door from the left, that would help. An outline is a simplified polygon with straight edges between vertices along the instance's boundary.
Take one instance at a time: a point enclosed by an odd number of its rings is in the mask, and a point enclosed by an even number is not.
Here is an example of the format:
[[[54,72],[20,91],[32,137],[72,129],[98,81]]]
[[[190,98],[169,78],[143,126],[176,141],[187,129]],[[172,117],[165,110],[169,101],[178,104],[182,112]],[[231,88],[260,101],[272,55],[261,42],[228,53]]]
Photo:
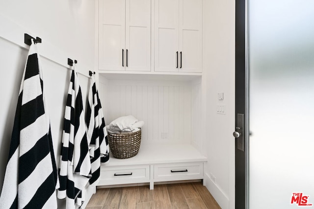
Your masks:
[[[126,70],[151,70],[151,1],[126,0]]]

